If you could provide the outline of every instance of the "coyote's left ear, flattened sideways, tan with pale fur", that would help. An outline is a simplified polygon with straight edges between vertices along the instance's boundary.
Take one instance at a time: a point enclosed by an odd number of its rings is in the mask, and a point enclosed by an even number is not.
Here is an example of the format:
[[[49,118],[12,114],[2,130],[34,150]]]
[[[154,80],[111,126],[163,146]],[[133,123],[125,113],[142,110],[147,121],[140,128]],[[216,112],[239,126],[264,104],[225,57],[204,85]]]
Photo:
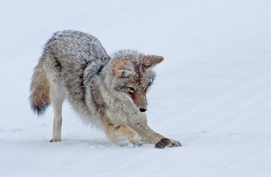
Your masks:
[[[128,61],[119,61],[114,67],[114,74],[123,77],[129,77],[134,75],[135,73],[132,71],[132,66]]]

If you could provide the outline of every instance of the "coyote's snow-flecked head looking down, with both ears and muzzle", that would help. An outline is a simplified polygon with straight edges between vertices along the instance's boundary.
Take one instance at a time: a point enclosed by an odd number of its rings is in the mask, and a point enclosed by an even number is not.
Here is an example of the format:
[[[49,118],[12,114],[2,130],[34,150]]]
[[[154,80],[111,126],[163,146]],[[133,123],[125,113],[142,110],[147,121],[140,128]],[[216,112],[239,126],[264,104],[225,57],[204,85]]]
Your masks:
[[[112,58],[111,94],[131,109],[147,110],[146,92],[152,84],[155,73],[152,70],[164,58],[144,55],[136,51],[119,51]],[[128,102],[128,104],[126,104]]]

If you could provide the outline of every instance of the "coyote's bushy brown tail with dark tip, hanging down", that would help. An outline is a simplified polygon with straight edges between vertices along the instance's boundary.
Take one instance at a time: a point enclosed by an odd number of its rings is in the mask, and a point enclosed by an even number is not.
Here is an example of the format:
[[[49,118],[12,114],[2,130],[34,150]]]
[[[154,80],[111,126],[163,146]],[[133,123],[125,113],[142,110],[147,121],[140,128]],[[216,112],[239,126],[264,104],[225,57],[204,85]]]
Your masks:
[[[46,108],[50,105],[50,84],[46,78],[46,73],[43,68],[40,58],[38,65],[34,68],[34,74],[30,85],[30,105],[34,113],[38,115],[44,114]]]

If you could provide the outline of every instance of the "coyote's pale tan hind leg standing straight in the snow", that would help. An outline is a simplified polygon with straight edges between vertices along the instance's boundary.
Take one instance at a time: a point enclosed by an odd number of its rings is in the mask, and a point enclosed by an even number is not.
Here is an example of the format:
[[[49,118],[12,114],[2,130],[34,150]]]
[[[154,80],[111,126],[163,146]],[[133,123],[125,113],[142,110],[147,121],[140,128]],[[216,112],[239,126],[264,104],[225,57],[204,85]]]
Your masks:
[[[50,142],[61,141],[61,126],[62,126],[62,104],[64,101],[64,95],[62,91],[55,84],[50,85],[50,98],[51,103],[54,108],[54,128],[53,128],[53,138]]]

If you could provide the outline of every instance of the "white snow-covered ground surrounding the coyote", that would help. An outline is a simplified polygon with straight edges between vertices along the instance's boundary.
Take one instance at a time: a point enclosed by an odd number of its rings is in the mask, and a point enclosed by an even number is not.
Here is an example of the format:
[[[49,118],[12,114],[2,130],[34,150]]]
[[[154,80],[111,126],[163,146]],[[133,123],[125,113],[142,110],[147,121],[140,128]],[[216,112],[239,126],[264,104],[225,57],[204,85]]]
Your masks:
[[[0,176],[271,176],[270,1],[1,1]],[[32,69],[53,32],[95,35],[108,53],[164,56],[148,122],[182,147],[113,145],[65,103],[28,104]]]

